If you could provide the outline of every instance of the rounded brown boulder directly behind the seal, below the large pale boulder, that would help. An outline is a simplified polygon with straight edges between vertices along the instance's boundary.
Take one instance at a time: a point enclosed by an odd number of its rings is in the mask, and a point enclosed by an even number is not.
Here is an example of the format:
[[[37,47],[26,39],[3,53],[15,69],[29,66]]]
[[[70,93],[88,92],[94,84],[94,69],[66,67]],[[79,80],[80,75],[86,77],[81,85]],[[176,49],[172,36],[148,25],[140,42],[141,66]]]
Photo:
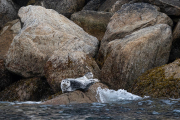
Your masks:
[[[95,60],[79,51],[56,51],[45,67],[47,81],[55,93],[61,91],[60,83],[63,79],[82,77],[87,72],[99,78],[100,69]]]

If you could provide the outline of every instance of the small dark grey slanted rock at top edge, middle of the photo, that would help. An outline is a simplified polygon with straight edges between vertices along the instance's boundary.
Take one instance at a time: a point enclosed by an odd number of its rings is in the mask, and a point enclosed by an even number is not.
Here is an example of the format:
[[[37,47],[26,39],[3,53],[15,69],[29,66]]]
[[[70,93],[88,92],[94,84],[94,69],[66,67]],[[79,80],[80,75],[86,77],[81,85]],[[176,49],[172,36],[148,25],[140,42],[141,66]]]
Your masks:
[[[94,10],[97,11],[99,7],[105,2],[106,0],[90,0],[84,7],[83,10]]]

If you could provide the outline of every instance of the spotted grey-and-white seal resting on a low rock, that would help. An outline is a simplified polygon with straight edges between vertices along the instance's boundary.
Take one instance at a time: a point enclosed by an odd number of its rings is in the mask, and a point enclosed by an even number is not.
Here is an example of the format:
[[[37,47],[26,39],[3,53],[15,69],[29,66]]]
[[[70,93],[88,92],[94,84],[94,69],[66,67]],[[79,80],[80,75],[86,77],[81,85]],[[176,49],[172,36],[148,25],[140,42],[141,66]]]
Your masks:
[[[87,91],[88,88],[96,83],[99,82],[98,79],[93,79],[92,72],[86,73],[83,77],[80,78],[67,78],[61,81],[61,90],[62,93],[72,92],[75,90]]]

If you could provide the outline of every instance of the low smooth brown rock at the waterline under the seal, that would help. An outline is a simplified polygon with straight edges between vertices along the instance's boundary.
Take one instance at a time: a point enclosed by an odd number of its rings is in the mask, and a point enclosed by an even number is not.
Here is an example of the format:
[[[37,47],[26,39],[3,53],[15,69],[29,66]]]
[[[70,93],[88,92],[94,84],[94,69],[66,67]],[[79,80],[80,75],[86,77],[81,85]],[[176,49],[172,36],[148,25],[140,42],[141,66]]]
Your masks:
[[[82,91],[74,91],[71,93],[62,94],[57,96],[54,99],[45,101],[42,104],[51,104],[51,105],[62,105],[62,104],[77,104],[77,103],[93,103],[98,102],[96,99],[96,90],[98,87],[107,88],[106,85],[102,83],[93,84],[89,90],[85,93]]]

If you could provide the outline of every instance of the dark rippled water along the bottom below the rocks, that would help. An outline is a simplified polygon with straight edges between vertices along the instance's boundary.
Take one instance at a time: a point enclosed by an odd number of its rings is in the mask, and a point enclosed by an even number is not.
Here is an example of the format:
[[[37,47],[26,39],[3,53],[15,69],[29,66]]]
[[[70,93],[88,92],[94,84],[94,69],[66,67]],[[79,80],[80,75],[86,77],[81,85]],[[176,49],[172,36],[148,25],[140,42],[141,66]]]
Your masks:
[[[180,100],[144,99],[72,105],[0,102],[0,120],[180,120]]]

